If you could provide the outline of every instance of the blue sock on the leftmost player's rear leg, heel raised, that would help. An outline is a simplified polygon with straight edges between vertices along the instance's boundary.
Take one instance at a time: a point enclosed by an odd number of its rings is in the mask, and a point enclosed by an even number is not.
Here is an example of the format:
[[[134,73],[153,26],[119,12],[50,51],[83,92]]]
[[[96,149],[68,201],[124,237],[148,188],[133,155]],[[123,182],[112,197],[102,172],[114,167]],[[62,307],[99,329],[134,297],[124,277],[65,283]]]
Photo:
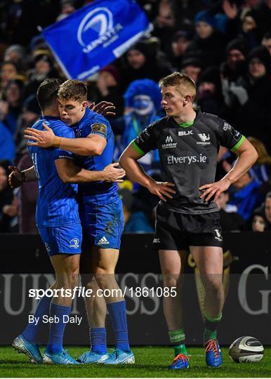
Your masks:
[[[49,315],[50,312],[50,303],[51,303],[52,297],[44,296],[41,298],[37,305],[37,310],[34,313],[34,317],[36,317],[37,325],[36,323],[29,323],[25,330],[22,332],[22,335],[24,338],[29,341],[29,343],[37,343],[37,337],[39,334],[39,330],[41,328],[41,325],[43,324],[42,317],[46,314]],[[39,318],[38,318],[39,317]]]

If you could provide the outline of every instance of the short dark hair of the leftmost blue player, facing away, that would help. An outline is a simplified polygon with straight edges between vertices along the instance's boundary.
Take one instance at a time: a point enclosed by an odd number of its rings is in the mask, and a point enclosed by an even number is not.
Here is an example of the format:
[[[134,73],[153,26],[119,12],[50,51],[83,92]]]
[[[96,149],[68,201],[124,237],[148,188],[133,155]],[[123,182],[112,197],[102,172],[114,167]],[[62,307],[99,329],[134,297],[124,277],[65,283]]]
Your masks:
[[[41,110],[54,105],[58,97],[58,89],[62,81],[60,79],[45,79],[37,89],[37,100]]]

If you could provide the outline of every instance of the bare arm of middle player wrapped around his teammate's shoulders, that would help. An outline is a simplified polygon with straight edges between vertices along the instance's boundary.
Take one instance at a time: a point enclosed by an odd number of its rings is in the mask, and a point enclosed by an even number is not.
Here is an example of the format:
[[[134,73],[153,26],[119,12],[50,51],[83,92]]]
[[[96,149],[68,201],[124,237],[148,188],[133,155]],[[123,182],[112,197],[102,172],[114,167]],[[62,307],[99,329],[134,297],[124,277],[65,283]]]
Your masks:
[[[100,155],[103,153],[107,140],[99,134],[89,134],[86,138],[58,137],[46,124],[42,124],[44,131],[33,128],[25,129],[25,138],[32,140],[29,145],[39,147],[57,147],[77,155]]]

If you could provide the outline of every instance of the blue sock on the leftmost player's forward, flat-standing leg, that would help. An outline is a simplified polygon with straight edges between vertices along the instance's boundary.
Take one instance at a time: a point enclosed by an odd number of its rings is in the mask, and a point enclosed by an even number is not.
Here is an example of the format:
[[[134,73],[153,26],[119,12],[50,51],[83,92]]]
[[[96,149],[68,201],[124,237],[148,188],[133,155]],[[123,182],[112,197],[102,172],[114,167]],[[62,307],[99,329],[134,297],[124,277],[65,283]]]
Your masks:
[[[58,322],[50,324],[49,339],[46,352],[57,354],[62,352],[63,334],[66,324],[63,322],[63,316],[69,316],[71,307],[65,305],[54,304],[51,302],[50,317],[58,317]],[[66,319],[67,317],[65,317]],[[65,321],[65,320],[64,320]]]

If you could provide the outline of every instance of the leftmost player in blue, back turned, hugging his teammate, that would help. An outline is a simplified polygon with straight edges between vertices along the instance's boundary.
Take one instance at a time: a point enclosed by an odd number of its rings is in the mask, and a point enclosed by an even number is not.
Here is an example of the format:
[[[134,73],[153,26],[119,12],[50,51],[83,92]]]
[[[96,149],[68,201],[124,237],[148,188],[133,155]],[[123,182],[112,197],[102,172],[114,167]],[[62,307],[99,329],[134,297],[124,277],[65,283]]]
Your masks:
[[[38,88],[37,99],[42,110],[42,116],[32,126],[33,130],[42,129],[43,123],[51,126],[58,135],[74,138],[74,131],[59,119],[56,97],[60,81],[46,79]],[[41,149],[29,146],[29,154],[34,164],[35,175],[39,182],[39,198],[37,201],[36,220],[41,239],[44,241],[48,255],[55,270],[55,283],[51,289],[61,288],[72,290],[79,280],[79,260],[81,253],[82,230],[76,201],[77,185],[73,183],[90,182],[91,180],[121,180],[124,171],[116,170],[109,165],[100,171],[87,171],[74,164],[71,152],[65,149]],[[95,152],[93,152],[95,154]],[[13,168],[10,183],[34,179],[33,170],[20,173]],[[29,175],[27,177],[27,175]],[[63,350],[62,338],[65,321],[70,314],[71,296],[58,294],[53,298],[41,298],[34,314],[35,323],[29,323],[25,331],[13,341],[13,346],[19,352],[37,363],[78,364]],[[58,320],[50,324],[48,345],[44,357],[41,357],[37,345],[43,316]]]

